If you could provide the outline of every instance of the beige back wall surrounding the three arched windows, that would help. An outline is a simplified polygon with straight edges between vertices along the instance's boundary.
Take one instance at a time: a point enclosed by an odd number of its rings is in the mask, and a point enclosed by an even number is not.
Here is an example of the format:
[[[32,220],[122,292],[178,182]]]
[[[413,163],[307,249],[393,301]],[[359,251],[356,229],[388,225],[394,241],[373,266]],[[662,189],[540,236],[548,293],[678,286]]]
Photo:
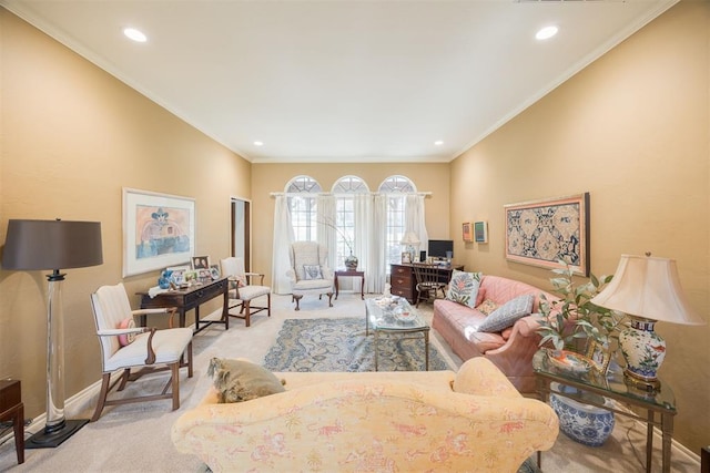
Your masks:
[[[412,179],[417,191],[430,192],[425,199],[426,227],[429,238],[449,238],[449,165],[446,164],[253,164],[253,269],[268,275],[271,280],[272,236],[274,230],[274,199],[271,193],[284,192],[295,176],[307,175],[316,179],[323,191],[329,192],[335,182],[348,175],[362,177],[372,192],[376,192],[387,177],[403,175]]]

